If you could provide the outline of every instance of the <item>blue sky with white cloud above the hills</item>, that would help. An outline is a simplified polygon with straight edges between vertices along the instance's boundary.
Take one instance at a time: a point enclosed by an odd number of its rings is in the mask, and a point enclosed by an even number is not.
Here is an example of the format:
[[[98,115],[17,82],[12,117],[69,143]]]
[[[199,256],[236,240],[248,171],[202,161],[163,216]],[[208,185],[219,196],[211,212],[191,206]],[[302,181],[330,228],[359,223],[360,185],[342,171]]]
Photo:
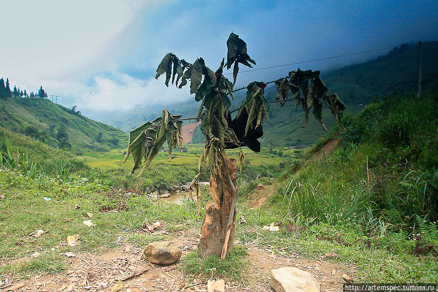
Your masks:
[[[231,32],[248,44],[255,69],[438,38],[436,0],[16,0],[2,10],[8,43],[0,46],[0,76],[29,92],[40,85],[49,94],[92,92],[58,98],[83,114],[193,98],[155,80],[159,62],[173,52],[189,62],[203,57],[216,70]],[[241,73],[236,86],[387,51]],[[105,91],[126,87],[134,88]]]

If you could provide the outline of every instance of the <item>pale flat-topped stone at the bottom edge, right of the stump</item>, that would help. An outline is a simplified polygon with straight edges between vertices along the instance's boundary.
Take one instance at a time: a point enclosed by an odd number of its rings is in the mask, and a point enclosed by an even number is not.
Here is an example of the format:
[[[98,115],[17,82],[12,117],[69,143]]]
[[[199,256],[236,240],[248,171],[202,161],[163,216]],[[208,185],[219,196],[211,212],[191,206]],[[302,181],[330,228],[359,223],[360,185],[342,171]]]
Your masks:
[[[294,267],[271,270],[271,285],[276,292],[319,292],[313,275]]]

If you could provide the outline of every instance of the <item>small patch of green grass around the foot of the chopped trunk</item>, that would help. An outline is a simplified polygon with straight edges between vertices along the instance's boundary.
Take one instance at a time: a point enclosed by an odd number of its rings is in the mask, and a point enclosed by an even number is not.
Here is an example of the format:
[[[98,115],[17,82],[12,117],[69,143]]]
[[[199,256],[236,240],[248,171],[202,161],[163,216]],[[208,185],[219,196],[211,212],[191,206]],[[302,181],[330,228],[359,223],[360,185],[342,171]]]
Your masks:
[[[235,245],[231,254],[224,259],[220,256],[199,258],[198,251],[188,253],[183,259],[183,271],[193,277],[241,279],[247,265],[245,246]]]

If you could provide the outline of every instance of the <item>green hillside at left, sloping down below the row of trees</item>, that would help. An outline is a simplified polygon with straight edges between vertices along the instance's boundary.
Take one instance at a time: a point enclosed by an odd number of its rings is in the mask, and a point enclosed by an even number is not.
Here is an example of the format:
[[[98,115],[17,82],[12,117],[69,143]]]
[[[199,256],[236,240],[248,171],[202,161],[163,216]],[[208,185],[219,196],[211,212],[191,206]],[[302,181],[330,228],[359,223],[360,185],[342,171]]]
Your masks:
[[[0,127],[76,154],[124,146],[127,135],[44,98],[0,99]]]

